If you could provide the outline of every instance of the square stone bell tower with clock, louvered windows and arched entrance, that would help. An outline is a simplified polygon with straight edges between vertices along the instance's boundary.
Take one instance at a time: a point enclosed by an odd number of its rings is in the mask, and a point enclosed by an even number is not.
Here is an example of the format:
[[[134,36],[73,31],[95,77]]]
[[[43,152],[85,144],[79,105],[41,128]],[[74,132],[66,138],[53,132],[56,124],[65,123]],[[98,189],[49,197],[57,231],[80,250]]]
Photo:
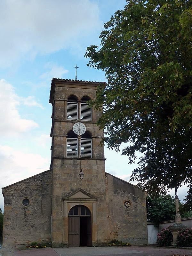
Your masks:
[[[101,113],[87,104],[98,86],[105,83],[52,79],[53,247],[107,244],[103,131],[95,125]]]

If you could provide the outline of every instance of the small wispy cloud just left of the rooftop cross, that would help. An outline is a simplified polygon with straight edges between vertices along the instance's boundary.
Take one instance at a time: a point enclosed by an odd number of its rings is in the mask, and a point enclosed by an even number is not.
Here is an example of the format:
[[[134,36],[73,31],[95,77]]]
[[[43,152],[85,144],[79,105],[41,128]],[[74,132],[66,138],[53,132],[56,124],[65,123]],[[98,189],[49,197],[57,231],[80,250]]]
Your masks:
[[[62,78],[64,74],[68,73],[68,70],[64,69],[63,67],[57,66],[54,63],[47,63],[45,68],[48,68],[49,71],[44,72],[40,78],[48,80],[49,82],[52,80],[53,77],[55,78]]]

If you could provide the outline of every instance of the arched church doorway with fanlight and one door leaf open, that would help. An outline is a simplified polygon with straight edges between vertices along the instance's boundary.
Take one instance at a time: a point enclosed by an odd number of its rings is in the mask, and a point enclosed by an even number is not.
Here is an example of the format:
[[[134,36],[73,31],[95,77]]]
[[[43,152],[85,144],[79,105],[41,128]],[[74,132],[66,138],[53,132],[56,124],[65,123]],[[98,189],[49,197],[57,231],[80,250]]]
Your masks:
[[[84,205],[76,205],[68,213],[69,247],[92,246],[91,212]]]

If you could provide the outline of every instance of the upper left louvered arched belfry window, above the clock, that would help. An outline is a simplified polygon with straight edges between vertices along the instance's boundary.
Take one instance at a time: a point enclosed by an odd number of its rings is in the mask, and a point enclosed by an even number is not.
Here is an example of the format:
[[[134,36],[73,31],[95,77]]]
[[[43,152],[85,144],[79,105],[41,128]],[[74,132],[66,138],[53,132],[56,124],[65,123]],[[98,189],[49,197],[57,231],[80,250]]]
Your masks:
[[[70,96],[67,102],[67,119],[78,119],[78,102],[76,96]]]

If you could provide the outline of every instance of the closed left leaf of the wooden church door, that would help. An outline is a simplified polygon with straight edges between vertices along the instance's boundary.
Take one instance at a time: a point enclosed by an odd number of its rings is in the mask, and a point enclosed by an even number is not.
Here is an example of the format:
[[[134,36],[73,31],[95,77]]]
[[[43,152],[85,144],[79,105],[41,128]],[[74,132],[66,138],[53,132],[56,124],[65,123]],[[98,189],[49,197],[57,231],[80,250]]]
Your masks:
[[[80,217],[68,217],[69,247],[80,246]]]

